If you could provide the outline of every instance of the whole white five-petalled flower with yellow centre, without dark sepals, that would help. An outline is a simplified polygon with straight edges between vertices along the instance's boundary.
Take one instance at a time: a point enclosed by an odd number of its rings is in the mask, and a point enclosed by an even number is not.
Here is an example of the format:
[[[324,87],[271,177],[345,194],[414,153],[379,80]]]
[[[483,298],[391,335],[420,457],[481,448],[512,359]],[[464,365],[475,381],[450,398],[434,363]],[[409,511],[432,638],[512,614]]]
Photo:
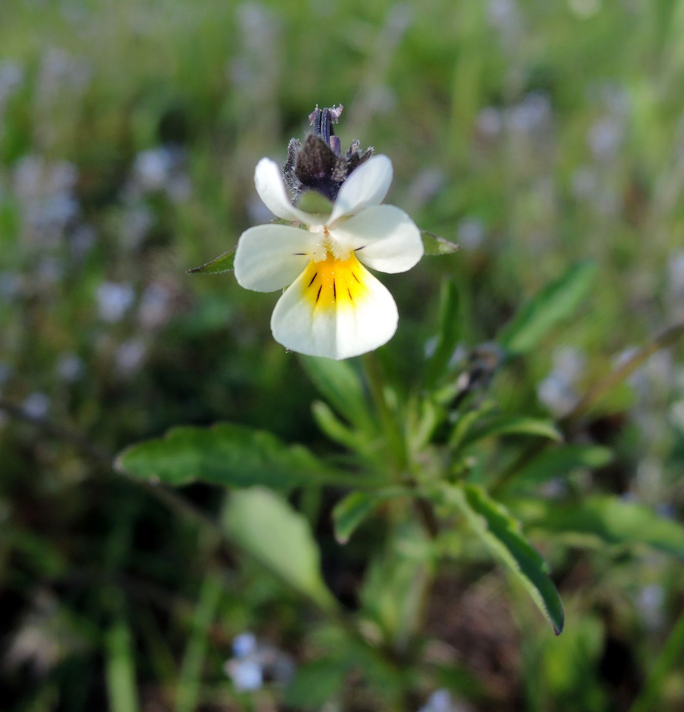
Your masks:
[[[293,351],[349,358],[388,342],[397,306],[366,267],[405,272],[423,256],[420,231],[403,210],[380,205],[392,182],[392,162],[375,156],[343,182],[329,216],[291,204],[278,165],[262,158],[254,172],[259,197],[279,218],[306,229],[269,224],[240,236],[235,278],[257,292],[287,287],[271,330]]]

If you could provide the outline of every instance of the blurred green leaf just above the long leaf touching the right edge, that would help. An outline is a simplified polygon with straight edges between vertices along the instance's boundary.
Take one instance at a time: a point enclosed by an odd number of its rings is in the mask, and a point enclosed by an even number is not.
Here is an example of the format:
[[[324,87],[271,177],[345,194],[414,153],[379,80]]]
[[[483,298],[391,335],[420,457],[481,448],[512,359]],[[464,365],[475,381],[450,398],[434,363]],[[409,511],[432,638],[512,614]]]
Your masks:
[[[533,488],[554,477],[561,477],[578,468],[598,468],[607,465],[613,453],[599,445],[560,445],[537,456],[521,468],[504,485],[507,493]]]

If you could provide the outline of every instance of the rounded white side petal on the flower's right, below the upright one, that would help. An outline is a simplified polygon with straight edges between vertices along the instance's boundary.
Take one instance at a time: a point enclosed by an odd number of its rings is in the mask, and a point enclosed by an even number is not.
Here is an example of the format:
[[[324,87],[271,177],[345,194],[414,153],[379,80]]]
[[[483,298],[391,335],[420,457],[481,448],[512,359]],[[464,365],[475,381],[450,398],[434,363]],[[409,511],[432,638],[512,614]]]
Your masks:
[[[366,208],[331,228],[330,234],[342,248],[380,272],[405,272],[423,257],[420,230],[393,205]]]

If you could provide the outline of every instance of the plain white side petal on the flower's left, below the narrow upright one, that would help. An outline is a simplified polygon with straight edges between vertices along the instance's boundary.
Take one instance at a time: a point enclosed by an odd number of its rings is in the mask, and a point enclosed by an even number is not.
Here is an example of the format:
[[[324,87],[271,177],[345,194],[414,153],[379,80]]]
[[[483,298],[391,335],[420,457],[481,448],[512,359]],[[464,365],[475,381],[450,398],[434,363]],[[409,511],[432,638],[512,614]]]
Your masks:
[[[319,237],[289,225],[258,225],[244,231],[233,265],[237,283],[256,292],[288,286],[311,261]]]

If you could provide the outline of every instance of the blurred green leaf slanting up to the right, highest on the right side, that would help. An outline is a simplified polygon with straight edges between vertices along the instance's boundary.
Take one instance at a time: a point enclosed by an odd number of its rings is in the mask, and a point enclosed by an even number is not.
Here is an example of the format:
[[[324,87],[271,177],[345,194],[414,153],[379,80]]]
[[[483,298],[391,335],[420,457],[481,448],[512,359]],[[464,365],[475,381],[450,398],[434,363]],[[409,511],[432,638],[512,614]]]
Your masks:
[[[580,262],[551,282],[522,307],[499,335],[509,352],[523,354],[537,346],[556,324],[569,318],[589,294],[596,265]]]

